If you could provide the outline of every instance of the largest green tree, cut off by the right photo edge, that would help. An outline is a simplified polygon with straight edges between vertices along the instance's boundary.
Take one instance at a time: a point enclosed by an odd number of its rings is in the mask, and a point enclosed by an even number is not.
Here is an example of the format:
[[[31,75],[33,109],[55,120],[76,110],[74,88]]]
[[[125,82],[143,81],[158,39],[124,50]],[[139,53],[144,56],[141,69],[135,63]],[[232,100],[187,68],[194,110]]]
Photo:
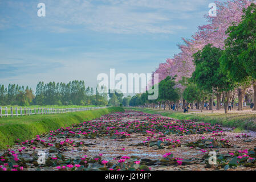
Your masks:
[[[256,110],[256,5],[251,3],[243,9],[239,24],[233,23],[226,34],[225,51],[221,57],[222,67],[238,82],[250,79],[254,88],[254,110]]]

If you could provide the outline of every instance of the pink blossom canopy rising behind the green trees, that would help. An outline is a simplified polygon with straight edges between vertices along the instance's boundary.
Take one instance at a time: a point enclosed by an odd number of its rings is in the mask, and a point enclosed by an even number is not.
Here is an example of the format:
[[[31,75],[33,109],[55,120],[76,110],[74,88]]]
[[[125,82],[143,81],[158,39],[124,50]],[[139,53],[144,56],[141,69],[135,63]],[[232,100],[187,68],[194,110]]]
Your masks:
[[[182,38],[184,44],[178,45],[181,52],[174,55],[173,59],[166,59],[165,63],[159,64],[159,68],[152,73],[152,83],[154,73],[159,73],[159,82],[166,76],[177,75],[176,81],[181,80],[182,77],[191,77],[194,72],[192,55],[207,44],[223,48],[224,40],[227,38],[225,31],[233,22],[241,21],[243,8],[247,8],[252,2],[255,3],[253,0],[233,0],[224,3],[216,1],[217,16],[205,15],[209,24],[199,26],[192,39]],[[178,87],[182,88],[181,85]]]

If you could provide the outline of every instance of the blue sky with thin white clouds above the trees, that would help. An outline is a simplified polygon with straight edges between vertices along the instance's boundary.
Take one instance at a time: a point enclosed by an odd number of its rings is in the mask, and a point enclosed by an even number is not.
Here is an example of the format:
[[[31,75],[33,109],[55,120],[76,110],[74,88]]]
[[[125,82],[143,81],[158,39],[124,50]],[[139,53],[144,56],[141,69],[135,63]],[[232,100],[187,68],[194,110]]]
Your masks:
[[[152,73],[207,24],[213,0],[0,0],[0,84]],[[46,16],[38,16],[38,3]]]

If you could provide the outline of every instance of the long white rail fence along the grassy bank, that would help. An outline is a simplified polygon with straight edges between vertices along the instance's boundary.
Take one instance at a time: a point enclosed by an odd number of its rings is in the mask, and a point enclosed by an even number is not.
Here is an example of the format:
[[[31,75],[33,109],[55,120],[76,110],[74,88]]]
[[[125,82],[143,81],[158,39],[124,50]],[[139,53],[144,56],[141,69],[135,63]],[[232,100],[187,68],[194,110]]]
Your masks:
[[[94,109],[102,109],[106,107],[78,107],[78,108],[46,108],[46,107],[0,107],[0,118],[2,117],[13,117],[19,115],[33,115],[33,114],[60,114],[60,113],[71,113],[77,111],[85,111],[85,110],[94,110]]]

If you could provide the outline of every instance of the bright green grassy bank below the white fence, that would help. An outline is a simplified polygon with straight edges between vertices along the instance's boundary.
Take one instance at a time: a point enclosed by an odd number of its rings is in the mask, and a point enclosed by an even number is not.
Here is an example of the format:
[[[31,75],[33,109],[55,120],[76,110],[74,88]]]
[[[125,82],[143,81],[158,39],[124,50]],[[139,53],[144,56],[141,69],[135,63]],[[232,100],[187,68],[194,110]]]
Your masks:
[[[113,111],[124,111],[122,107],[79,111],[66,114],[30,115],[17,118],[0,118],[0,148],[13,145],[15,139],[21,141],[32,139],[36,135],[69,127],[90,119],[99,118],[103,114]]]

